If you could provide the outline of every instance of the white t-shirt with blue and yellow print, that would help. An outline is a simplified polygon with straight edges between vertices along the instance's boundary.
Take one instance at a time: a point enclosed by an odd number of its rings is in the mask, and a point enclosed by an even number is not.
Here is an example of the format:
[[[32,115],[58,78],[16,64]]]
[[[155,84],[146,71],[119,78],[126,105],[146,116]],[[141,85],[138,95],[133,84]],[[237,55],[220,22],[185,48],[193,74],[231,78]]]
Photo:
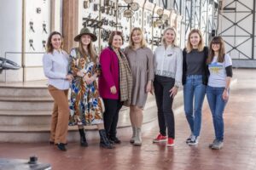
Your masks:
[[[225,87],[227,77],[225,67],[232,65],[232,60],[229,54],[225,54],[224,62],[217,62],[217,56],[212,59],[212,63],[208,65],[208,69],[210,71],[210,77],[208,80],[208,86],[215,88],[223,88]]]

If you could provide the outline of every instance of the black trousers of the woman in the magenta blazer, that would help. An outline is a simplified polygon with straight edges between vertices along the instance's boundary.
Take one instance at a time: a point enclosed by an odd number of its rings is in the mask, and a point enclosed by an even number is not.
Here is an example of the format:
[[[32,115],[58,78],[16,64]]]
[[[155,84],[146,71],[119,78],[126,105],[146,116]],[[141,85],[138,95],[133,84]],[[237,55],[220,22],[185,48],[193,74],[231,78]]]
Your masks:
[[[105,112],[103,113],[104,127],[108,138],[116,137],[116,127],[119,121],[119,111],[123,105],[119,99],[103,99]]]

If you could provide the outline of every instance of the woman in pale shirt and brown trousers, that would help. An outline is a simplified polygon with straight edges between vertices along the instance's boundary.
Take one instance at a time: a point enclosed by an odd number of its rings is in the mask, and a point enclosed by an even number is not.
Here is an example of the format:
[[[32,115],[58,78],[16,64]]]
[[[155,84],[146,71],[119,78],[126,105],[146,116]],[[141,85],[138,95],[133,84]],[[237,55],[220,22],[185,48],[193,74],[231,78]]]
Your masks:
[[[66,151],[69,118],[67,93],[73,76],[67,73],[68,55],[61,48],[61,33],[53,31],[49,35],[46,47],[43,57],[44,75],[49,80],[49,94],[54,99],[49,144],[56,144],[59,150]]]

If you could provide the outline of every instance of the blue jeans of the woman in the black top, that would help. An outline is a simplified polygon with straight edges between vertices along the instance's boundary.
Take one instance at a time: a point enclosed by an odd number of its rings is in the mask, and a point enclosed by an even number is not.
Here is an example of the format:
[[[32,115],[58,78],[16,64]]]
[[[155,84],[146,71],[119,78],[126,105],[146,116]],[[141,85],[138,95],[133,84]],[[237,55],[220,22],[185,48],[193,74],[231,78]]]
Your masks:
[[[196,137],[201,131],[201,108],[205,94],[206,85],[202,83],[201,75],[186,77],[186,84],[183,86],[184,110],[191,133]]]

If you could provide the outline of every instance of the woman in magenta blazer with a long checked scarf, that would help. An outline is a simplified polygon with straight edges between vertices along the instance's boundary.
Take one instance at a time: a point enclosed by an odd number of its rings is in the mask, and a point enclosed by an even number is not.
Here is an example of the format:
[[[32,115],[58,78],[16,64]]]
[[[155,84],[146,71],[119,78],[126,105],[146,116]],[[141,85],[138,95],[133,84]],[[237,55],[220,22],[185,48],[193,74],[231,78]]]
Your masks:
[[[131,100],[131,71],[125,54],[120,50],[124,42],[122,32],[113,31],[108,39],[108,48],[102,50],[100,64],[102,74],[99,77],[99,92],[102,96],[105,112],[104,126],[112,144],[121,141],[116,137],[119,111],[123,104]]]

